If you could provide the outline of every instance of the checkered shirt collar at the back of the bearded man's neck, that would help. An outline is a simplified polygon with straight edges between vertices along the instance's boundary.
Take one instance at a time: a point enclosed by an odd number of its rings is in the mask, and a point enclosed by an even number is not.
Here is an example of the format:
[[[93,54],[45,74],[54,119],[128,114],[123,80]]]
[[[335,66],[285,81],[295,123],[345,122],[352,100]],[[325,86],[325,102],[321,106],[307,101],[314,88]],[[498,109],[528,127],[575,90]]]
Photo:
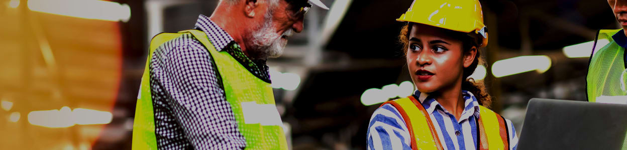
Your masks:
[[[228,46],[229,42],[233,41],[233,37],[224,31],[222,27],[219,27],[218,24],[211,21],[209,17],[202,14],[198,16],[195,28],[207,34],[211,44],[216,47],[216,51],[221,51],[224,47]]]

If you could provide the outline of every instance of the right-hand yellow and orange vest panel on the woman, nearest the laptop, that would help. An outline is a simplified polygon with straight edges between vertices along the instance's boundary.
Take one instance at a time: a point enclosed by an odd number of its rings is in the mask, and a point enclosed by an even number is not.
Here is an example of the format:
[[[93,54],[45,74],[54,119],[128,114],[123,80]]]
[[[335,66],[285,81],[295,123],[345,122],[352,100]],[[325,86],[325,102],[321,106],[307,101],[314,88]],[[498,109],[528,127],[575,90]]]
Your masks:
[[[479,106],[479,115],[480,149],[509,149],[505,118],[483,106]]]

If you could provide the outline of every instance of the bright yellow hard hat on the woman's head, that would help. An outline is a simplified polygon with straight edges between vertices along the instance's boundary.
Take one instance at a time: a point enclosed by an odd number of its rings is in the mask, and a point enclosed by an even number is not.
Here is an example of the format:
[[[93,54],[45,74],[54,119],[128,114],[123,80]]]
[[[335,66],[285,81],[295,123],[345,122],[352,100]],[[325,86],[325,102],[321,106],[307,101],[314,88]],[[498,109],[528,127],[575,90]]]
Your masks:
[[[478,0],[414,0],[396,21],[416,22],[477,34],[479,47],[488,44],[487,27]]]

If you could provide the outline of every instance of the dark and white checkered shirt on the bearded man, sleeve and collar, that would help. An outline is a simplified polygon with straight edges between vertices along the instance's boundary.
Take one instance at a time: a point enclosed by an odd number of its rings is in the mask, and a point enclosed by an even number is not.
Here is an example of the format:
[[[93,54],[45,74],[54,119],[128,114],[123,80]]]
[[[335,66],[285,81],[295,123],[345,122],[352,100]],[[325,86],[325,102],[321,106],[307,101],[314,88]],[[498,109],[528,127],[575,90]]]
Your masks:
[[[200,15],[217,51],[227,51],[258,78],[270,83],[265,61],[251,61],[233,37],[209,17]],[[211,54],[192,34],[167,41],[150,60],[150,91],[159,149],[244,149],[222,79]]]

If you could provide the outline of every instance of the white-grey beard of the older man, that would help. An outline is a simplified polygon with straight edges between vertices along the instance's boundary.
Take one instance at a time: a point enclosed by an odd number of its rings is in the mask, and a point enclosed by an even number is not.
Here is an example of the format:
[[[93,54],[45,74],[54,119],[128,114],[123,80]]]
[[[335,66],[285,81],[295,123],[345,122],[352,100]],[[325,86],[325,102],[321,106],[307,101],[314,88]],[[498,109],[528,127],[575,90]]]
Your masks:
[[[283,40],[281,37],[286,36],[287,38],[293,34],[292,29],[289,29],[283,32],[282,35],[279,35],[272,25],[272,17],[266,15],[266,22],[260,29],[254,31],[252,35],[252,48],[258,51],[263,58],[277,58],[281,56],[287,44],[287,40]]]

